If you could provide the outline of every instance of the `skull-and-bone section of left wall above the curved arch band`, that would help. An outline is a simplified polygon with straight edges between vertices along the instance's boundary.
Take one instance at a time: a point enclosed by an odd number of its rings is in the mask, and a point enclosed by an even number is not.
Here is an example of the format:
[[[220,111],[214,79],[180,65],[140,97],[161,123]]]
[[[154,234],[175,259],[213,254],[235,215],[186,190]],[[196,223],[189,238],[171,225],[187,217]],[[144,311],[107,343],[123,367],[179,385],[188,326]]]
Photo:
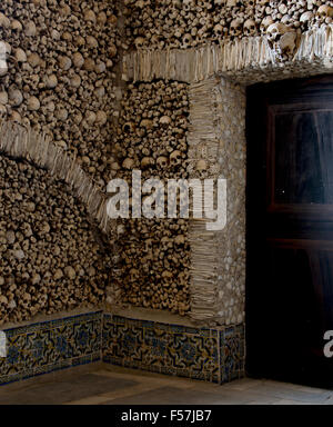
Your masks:
[[[103,186],[110,178],[114,66],[124,47],[109,1],[3,0],[0,112],[48,131]]]

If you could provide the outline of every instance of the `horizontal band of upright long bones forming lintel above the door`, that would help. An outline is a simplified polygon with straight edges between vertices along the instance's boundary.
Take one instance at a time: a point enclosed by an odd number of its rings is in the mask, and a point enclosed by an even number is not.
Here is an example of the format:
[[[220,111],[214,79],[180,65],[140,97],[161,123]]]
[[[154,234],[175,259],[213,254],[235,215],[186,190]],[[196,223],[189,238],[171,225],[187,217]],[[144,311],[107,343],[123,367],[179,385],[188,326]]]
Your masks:
[[[293,58],[281,61],[266,37],[249,37],[193,49],[140,49],[123,59],[123,79],[196,82],[220,75],[243,85],[333,70],[333,24],[300,36]]]

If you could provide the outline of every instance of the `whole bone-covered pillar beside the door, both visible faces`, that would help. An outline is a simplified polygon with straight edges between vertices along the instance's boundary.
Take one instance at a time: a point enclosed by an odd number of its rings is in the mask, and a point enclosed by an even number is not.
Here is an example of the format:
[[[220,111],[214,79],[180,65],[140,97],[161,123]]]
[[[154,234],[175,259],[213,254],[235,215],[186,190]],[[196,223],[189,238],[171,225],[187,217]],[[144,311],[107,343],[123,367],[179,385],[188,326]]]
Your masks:
[[[189,86],[189,172],[228,181],[228,226],[209,231],[190,220],[191,317],[242,324],[245,288],[245,91],[214,77]],[[196,165],[205,162],[205,170]],[[211,195],[213,199],[216,195]]]

